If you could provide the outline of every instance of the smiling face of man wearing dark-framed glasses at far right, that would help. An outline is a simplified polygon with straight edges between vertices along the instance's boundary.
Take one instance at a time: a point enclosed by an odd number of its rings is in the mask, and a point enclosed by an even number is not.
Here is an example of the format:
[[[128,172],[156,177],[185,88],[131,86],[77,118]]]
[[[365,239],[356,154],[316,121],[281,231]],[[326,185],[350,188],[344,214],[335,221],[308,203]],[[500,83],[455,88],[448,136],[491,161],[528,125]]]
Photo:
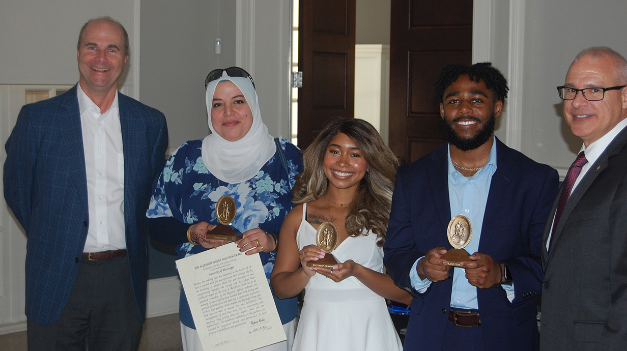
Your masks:
[[[571,88],[609,88],[623,85],[614,72],[616,63],[608,56],[587,55],[572,63],[564,85]],[[572,134],[583,140],[586,147],[603,137],[627,117],[627,88],[608,90],[603,100],[587,101],[581,92],[574,100],[564,100],[564,118]]]

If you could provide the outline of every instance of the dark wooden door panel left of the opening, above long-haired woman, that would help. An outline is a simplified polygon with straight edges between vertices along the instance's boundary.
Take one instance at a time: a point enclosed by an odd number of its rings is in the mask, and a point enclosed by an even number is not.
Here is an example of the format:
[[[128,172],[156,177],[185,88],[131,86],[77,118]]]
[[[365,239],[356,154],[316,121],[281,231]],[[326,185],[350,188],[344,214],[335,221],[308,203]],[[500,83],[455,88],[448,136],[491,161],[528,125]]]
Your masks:
[[[352,118],[355,100],[356,0],[300,0],[298,147],[305,149],[331,117]]]

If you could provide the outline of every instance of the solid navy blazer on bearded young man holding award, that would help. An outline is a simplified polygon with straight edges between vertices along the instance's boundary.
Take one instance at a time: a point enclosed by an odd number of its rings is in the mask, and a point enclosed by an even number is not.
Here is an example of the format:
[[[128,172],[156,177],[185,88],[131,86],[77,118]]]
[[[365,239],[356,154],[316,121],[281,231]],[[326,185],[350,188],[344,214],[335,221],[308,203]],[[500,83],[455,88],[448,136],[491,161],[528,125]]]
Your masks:
[[[505,290],[477,288],[486,350],[537,350],[535,296],[542,289],[540,241],[557,192],[557,171],[497,142],[478,251],[504,262],[514,280],[514,301]],[[405,350],[440,350],[451,301],[452,279],[431,283],[418,293],[409,271],[416,259],[436,246],[450,249],[448,144],[399,167],[384,263],[394,283],[413,294]],[[472,254],[472,253],[471,253]],[[451,275],[453,270],[451,269]]]

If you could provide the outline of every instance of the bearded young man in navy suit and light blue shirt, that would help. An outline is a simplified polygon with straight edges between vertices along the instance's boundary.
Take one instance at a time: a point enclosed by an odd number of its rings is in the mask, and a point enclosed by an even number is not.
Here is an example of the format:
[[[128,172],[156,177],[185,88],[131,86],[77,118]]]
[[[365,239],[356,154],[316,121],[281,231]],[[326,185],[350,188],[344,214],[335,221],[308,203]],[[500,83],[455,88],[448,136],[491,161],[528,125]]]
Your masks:
[[[414,296],[404,349],[537,350],[557,172],[494,137],[508,88],[490,63],[445,66],[435,86],[448,143],[399,168],[384,244],[387,271]],[[443,255],[458,241],[472,254],[451,269]]]

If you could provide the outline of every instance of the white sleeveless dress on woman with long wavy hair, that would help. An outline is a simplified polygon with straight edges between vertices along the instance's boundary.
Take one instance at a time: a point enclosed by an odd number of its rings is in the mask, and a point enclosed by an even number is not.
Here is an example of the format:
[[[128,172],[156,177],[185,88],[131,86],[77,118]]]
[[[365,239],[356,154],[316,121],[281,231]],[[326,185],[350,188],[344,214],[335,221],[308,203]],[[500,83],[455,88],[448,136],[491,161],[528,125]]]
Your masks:
[[[303,219],[296,234],[298,249],[315,245],[314,227]],[[376,234],[349,236],[333,251],[338,262],[352,259],[382,273],[383,249]],[[401,340],[387,312],[386,301],[354,276],[335,283],[316,274],[305,286],[305,300],[292,351],[397,351]]]

